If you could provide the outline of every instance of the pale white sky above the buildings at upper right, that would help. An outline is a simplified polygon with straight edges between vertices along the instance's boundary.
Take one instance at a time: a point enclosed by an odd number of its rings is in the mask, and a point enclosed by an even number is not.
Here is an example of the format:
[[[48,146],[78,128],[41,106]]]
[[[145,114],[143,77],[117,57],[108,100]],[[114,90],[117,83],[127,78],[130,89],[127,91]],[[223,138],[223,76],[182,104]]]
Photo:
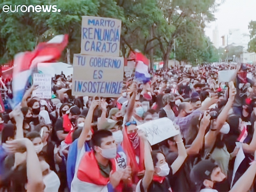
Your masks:
[[[249,22],[256,20],[256,0],[225,0],[214,15],[216,20],[207,24],[205,34],[212,40],[212,30],[218,26],[221,45],[220,37],[227,35],[229,29],[240,29],[242,33],[249,34]]]

